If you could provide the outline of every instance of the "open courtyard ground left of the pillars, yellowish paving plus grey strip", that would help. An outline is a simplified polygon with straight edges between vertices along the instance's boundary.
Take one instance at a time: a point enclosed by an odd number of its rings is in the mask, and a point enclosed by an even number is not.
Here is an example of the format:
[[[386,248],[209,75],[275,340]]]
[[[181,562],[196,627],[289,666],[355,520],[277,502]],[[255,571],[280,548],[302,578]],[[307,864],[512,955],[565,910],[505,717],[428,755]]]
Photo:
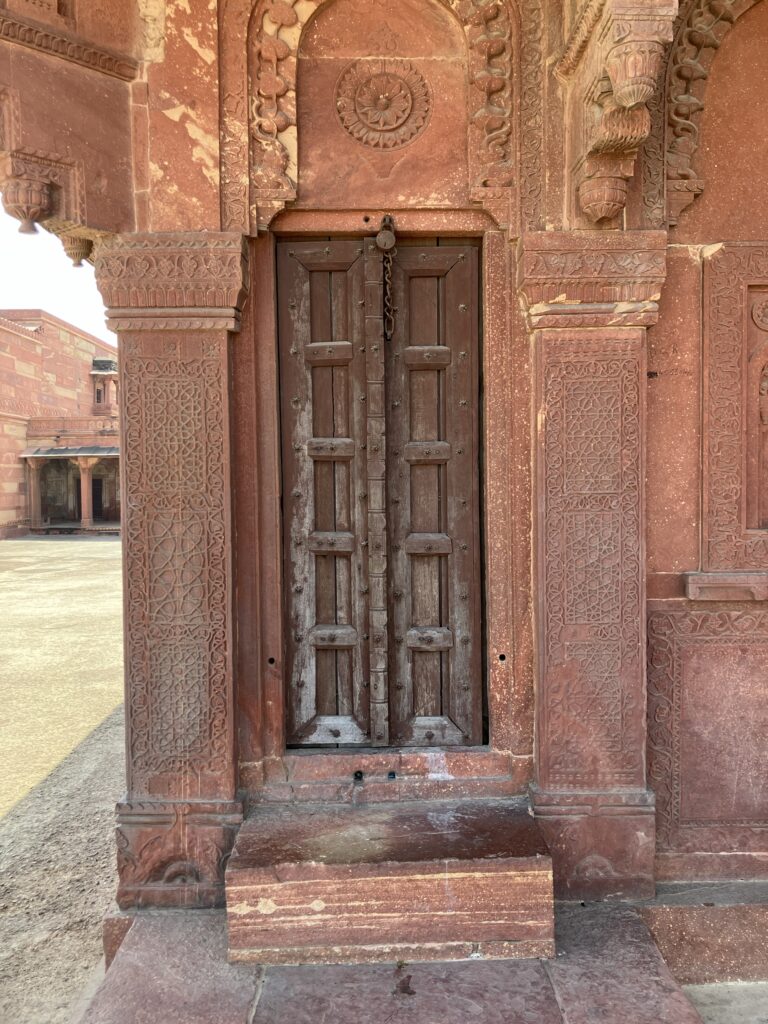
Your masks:
[[[0,543],[0,1021],[68,1024],[124,790],[117,538]]]

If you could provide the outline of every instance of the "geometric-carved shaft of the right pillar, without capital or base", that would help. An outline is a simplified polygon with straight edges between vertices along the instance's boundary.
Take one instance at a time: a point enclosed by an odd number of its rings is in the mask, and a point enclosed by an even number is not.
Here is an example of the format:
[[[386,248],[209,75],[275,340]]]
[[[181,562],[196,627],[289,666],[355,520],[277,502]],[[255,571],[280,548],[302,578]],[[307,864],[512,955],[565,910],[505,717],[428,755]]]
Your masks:
[[[540,339],[539,784],[641,787],[642,339]]]

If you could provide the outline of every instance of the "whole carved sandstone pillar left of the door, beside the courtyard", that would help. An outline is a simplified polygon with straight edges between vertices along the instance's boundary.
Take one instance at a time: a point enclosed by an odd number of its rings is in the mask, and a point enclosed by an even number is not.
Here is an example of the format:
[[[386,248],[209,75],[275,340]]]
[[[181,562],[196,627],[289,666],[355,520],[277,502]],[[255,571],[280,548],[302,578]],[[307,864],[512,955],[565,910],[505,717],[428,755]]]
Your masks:
[[[240,234],[125,234],[96,275],[120,333],[128,795],[118,902],[210,906],[242,821],[232,708],[229,333]]]

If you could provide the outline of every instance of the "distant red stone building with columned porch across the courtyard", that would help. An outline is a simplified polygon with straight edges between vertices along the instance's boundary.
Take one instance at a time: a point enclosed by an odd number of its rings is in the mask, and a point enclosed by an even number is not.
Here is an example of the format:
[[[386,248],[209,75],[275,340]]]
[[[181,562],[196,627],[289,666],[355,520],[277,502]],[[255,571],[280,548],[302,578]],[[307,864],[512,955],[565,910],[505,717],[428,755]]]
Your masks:
[[[117,349],[0,309],[0,539],[120,521]]]

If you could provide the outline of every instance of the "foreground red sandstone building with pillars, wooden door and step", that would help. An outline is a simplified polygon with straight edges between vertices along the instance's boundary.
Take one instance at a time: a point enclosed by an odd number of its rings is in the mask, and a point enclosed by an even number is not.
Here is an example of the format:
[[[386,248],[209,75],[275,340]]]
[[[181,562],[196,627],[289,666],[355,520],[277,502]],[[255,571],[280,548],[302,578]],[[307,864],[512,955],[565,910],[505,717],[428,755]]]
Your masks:
[[[758,0],[0,6],[5,208],[121,338],[130,956],[89,1020],[163,942],[250,1020],[227,943],[548,956],[552,877],[768,877],[767,40]],[[615,914],[560,1007],[694,1020]],[[340,991],[291,977],[253,1019]]]

